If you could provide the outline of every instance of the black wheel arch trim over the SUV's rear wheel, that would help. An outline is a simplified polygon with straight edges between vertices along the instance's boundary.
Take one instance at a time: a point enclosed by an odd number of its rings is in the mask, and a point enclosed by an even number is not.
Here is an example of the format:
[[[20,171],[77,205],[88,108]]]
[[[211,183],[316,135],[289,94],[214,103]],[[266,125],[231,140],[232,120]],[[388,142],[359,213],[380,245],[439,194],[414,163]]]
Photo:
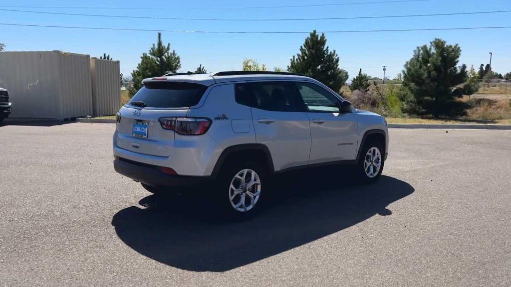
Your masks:
[[[268,168],[269,174],[273,174],[275,172],[273,159],[268,147],[262,143],[244,143],[241,145],[230,146],[222,151],[222,154],[220,154],[220,157],[215,164],[215,168],[213,168],[213,172],[211,174],[212,177],[216,178],[218,176],[222,166],[225,163],[231,160],[235,160],[237,155],[247,152],[252,152],[251,157],[255,158],[257,161],[263,161],[263,163]]]

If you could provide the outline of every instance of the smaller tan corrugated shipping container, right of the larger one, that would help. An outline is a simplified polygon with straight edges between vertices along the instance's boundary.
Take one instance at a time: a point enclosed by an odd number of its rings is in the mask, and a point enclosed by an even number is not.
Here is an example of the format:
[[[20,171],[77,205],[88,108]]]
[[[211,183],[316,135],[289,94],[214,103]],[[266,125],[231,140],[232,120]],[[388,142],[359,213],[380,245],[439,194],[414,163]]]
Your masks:
[[[90,59],[92,80],[92,113],[112,115],[121,107],[121,78],[119,61]]]

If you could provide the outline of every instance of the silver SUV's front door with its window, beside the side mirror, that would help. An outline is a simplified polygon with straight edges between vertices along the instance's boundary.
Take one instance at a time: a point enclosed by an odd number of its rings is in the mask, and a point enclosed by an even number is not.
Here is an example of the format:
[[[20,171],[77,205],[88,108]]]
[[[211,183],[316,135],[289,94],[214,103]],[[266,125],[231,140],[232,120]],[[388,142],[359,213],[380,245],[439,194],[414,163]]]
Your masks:
[[[338,99],[327,89],[310,82],[295,82],[311,123],[309,164],[354,160],[358,125],[353,113],[340,113]]]

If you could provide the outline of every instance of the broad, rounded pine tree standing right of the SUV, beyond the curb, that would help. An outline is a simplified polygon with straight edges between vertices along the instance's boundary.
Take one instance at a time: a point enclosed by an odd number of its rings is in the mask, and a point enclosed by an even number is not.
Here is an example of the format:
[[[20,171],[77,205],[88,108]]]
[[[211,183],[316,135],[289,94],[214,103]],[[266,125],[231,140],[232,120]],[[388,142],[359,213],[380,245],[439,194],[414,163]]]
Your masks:
[[[442,39],[417,47],[403,70],[403,112],[435,118],[466,114],[468,104],[456,99],[473,94],[476,85],[467,83],[467,66],[457,66],[460,55],[458,44]]]

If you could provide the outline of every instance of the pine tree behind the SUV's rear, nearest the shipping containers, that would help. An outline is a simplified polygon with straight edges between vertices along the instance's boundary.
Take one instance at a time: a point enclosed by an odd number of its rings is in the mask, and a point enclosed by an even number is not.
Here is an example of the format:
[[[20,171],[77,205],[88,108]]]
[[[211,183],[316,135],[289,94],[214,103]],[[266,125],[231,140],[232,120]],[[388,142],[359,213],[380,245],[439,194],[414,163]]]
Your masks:
[[[175,73],[181,68],[181,59],[176,51],[170,52],[170,43],[163,44],[161,33],[158,33],[158,40],[149,50],[149,54],[144,53],[140,58],[140,63],[131,73],[133,78],[133,87],[129,89],[131,95],[142,87],[142,80],[145,78]]]

